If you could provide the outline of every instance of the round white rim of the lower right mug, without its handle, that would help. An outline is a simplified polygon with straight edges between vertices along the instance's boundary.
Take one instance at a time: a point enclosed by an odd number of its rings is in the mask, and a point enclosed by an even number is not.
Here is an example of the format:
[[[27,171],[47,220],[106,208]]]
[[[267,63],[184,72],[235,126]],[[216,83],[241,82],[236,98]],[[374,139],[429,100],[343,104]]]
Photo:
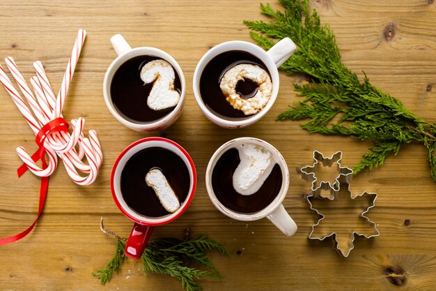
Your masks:
[[[217,195],[215,195],[215,191],[213,191],[212,187],[212,165],[216,164],[219,158],[221,158],[222,154],[226,152],[226,149],[232,148],[232,146],[235,144],[240,144],[241,142],[256,142],[257,144],[262,145],[263,147],[266,147],[266,149],[272,151],[272,154],[274,154],[274,158],[276,158],[277,163],[279,163],[279,166],[281,168],[281,174],[282,174],[282,182],[281,182],[281,188],[279,193],[277,194],[277,197],[272,200],[270,204],[268,204],[265,208],[260,209],[259,211],[256,211],[254,213],[244,214],[242,212],[234,211],[232,209],[229,209],[228,207],[225,207],[224,204],[222,204],[218,198]],[[215,165],[214,165],[215,166]],[[257,221],[258,219],[265,218],[266,216],[270,215],[277,207],[281,205],[283,200],[285,199],[288,188],[289,188],[289,170],[288,165],[286,164],[285,159],[281,155],[280,151],[276,149],[272,144],[265,142],[265,140],[260,140],[256,137],[237,137],[233,140],[229,140],[228,142],[224,142],[216,151],[214,154],[212,154],[208,167],[206,168],[205,172],[205,185],[206,185],[206,191],[208,192],[210,201],[212,204],[214,204],[215,208],[217,208],[222,214],[236,219],[238,221]]]

